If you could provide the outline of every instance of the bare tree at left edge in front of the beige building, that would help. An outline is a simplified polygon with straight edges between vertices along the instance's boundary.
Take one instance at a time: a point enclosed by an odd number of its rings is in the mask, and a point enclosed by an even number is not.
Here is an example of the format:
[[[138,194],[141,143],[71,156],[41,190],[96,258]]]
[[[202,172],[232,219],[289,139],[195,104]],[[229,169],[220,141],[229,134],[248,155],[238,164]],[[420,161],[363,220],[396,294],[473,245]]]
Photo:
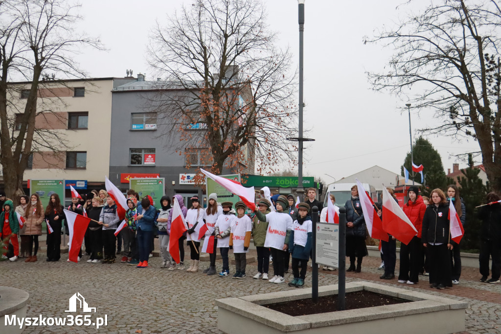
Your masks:
[[[23,194],[23,175],[34,150],[57,152],[64,143],[55,131],[35,126],[37,116],[53,111],[40,96],[41,87],[51,86],[48,74],[85,77],[71,55],[84,45],[101,48],[98,40],[74,31],[77,8],[64,0],[0,1],[0,162],[9,196]],[[13,79],[29,83],[11,84]]]

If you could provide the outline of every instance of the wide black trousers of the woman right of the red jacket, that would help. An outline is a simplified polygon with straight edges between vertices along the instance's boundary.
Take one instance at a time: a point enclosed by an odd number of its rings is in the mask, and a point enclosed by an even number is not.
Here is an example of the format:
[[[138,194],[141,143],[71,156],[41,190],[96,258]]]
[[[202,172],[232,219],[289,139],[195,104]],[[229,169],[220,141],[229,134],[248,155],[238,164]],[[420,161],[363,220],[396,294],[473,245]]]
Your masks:
[[[430,284],[443,284],[452,286],[450,278],[450,255],[447,244],[426,245],[426,258],[428,258],[430,269]]]

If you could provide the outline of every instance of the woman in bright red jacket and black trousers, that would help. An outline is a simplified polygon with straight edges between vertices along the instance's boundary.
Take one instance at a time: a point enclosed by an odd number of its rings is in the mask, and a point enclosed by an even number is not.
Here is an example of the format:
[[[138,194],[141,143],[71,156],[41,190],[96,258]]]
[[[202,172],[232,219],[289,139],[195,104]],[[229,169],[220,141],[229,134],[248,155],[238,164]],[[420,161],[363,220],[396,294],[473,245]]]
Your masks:
[[[408,245],[400,245],[400,273],[398,275],[399,283],[416,284],[418,282],[421,252],[421,226],[423,224],[426,205],[419,196],[419,188],[409,187],[407,192],[409,201],[403,206],[405,215],[409,218],[412,225],[417,230],[417,235],[412,238]]]

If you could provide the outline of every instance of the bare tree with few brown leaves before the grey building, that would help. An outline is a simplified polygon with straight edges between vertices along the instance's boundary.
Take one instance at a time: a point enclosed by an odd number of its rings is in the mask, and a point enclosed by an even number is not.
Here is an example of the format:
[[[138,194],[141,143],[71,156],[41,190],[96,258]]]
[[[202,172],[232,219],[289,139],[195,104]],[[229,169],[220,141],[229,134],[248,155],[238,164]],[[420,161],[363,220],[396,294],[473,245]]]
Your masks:
[[[199,0],[154,28],[149,62],[166,81],[151,106],[188,165],[193,156],[217,174],[245,158],[258,171],[295,159],[295,73],[265,19],[260,0]]]

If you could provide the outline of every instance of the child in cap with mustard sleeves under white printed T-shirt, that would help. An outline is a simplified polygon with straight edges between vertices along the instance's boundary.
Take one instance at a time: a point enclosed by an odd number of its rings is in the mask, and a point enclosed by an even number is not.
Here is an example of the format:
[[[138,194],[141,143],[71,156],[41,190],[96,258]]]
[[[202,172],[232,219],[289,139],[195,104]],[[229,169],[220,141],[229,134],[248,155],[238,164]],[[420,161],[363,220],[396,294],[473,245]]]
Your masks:
[[[247,266],[245,253],[248,252],[252,231],[252,222],[245,215],[246,207],[242,201],[235,203],[236,218],[231,224],[229,233],[229,249],[233,249],[233,255],[235,256],[235,274],[231,278],[245,278],[245,267]]]

